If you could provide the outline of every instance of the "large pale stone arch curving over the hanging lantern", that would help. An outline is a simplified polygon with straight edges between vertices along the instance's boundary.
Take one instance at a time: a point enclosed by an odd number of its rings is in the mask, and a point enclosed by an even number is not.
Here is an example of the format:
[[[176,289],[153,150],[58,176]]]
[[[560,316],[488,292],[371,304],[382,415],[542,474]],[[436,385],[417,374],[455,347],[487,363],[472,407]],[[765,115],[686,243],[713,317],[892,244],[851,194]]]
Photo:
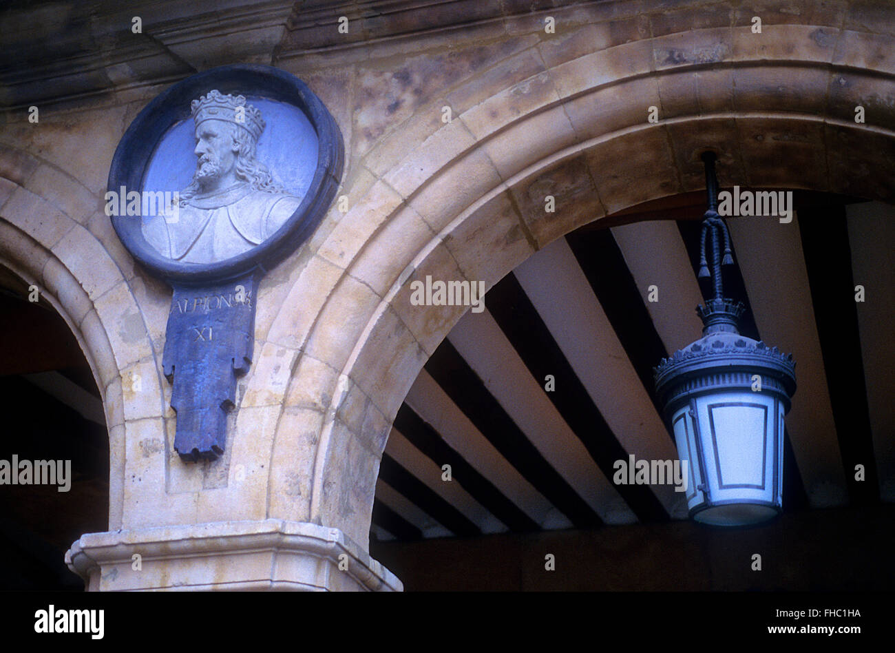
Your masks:
[[[875,170],[895,161],[895,61],[884,54],[893,39],[805,20],[765,21],[765,33],[776,33],[765,42],[750,39],[745,19],[700,30],[684,21],[686,31],[597,51],[589,44],[601,27],[584,26],[565,47],[539,51],[540,72],[500,77],[451,123],[422,115],[437,102],[421,109],[415,124],[427,126],[391,137],[413,133],[409,154],[387,157],[362,202],[322,238],[268,331],[259,370],[290,346],[277,373],[290,408],[268,404],[276,424],[268,516],[299,510],[366,545],[391,420],[465,308],[410,312],[413,280],[430,274],[490,287],[586,222],[702,189],[698,155],[709,147],[720,151],[722,183],[891,202],[895,188]],[[874,119],[855,123],[857,105],[873,107]],[[658,124],[646,121],[652,106]],[[389,146],[387,139],[381,148]],[[541,205],[550,191],[552,216]],[[249,392],[269,379],[256,373]],[[316,453],[304,462],[311,496],[300,505],[280,499],[294,469],[296,425],[320,429],[319,442],[305,442]]]

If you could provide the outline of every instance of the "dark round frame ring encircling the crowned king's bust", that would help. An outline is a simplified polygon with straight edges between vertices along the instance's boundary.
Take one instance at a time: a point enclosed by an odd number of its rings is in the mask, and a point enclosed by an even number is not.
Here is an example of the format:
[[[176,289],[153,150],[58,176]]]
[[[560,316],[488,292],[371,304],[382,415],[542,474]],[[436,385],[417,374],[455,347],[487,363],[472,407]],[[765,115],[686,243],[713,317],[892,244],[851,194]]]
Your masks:
[[[308,118],[317,133],[317,169],[301,204],[282,227],[249,251],[209,263],[178,262],[149,244],[142,219],[110,216],[115,233],[132,256],[154,276],[180,284],[222,282],[258,270],[268,271],[301,246],[326,215],[341,183],[345,161],[342,133],[327,107],[301,80],[266,65],[226,65],[197,73],[160,93],[143,108],[118,143],[107,189],[142,193],[149,162],[175,125],[191,117],[191,102],[210,90],[283,102]],[[192,154],[192,152],[191,152]]]

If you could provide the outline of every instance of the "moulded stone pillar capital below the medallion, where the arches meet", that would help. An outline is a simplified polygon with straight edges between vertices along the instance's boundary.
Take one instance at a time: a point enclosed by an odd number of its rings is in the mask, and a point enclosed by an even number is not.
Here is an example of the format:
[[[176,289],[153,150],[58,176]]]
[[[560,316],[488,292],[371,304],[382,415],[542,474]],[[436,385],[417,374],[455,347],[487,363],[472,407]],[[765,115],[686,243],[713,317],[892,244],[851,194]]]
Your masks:
[[[90,533],[65,563],[91,591],[404,589],[337,528],[285,520]]]

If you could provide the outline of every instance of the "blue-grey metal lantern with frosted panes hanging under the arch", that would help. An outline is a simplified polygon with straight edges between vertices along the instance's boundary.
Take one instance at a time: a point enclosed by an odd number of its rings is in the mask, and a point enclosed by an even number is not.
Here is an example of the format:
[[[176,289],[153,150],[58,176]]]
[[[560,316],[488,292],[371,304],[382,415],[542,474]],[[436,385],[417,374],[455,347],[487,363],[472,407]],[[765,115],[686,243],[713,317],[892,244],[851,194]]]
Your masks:
[[[796,391],[796,375],[791,354],[740,335],[737,318],[745,307],[723,296],[721,265],[732,265],[733,257],[727,226],[717,213],[714,160],[712,152],[703,154],[709,210],[699,277],[711,276],[714,287],[714,297],[696,308],[703,337],[662,359],[654,371],[678,458],[687,463],[690,516],[706,524],[744,526],[782,511],[783,416]]]

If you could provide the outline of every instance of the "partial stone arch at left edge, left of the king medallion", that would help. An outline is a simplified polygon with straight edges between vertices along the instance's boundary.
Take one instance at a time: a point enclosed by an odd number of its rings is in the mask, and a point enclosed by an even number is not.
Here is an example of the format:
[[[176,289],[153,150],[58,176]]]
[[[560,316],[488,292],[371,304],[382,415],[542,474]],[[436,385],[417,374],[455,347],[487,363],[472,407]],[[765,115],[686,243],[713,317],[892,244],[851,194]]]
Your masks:
[[[90,365],[109,436],[109,528],[123,528],[127,422],[139,419],[134,411],[143,410],[157,413],[160,424],[165,412],[153,343],[132,292],[133,271],[126,279],[120,257],[109,253],[116,244],[107,239],[109,234],[94,233],[97,227],[90,219],[98,209],[103,215],[101,203],[72,176],[4,146],[0,182],[0,263],[39,288]],[[124,329],[130,331],[123,334]],[[141,374],[141,402],[135,402],[135,392],[126,387],[130,372]]]

